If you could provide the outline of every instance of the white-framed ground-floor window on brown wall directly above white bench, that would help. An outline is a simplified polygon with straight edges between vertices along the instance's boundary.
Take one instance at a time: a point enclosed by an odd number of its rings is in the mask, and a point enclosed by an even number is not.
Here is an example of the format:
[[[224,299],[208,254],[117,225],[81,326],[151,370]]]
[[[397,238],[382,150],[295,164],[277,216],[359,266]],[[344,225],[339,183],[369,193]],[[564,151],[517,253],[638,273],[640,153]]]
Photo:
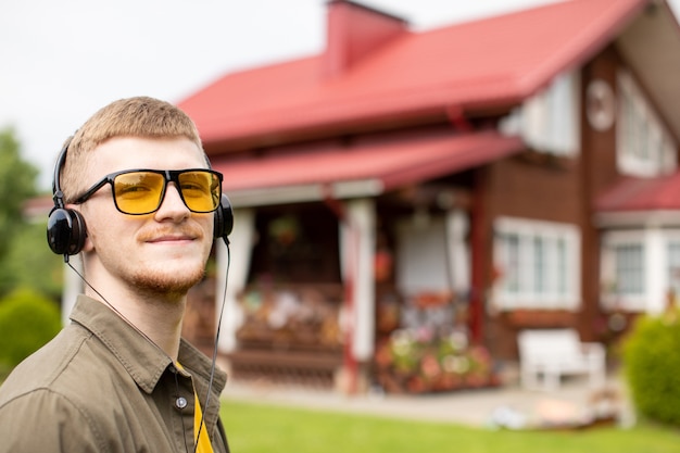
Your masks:
[[[500,307],[576,309],[580,235],[576,225],[503,217],[495,224]]]

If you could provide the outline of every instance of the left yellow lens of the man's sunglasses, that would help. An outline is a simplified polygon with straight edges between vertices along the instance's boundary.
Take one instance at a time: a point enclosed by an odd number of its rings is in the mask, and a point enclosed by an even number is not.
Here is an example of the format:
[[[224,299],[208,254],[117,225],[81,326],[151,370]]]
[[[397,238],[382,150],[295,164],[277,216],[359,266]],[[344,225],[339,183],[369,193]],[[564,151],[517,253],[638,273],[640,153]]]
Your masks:
[[[130,172],[113,181],[115,202],[126,214],[147,214],[159,209],[165,177],[158,173]]]

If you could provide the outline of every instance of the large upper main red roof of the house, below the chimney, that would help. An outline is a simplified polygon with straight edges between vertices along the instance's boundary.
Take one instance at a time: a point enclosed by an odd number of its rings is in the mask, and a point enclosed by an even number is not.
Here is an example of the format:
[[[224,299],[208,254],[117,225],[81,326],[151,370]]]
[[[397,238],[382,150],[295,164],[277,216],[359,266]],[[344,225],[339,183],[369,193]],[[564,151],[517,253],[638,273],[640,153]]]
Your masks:
[[[179,106],[206,144],[517,103],[609,42],[647,0],[571,0],[403,33],[337,77],[324,55],[228,74]]]

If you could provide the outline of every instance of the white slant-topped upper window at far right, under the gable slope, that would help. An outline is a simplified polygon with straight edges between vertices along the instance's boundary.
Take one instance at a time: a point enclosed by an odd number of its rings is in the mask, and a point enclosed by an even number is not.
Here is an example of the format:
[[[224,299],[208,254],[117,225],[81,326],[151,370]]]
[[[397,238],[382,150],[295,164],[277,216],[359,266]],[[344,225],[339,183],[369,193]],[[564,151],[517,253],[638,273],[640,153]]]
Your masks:
[[[654,177],[676,171],[678,163],[672,136],[630,75],[617,73],[618,113],[616,164],[620,173]]]

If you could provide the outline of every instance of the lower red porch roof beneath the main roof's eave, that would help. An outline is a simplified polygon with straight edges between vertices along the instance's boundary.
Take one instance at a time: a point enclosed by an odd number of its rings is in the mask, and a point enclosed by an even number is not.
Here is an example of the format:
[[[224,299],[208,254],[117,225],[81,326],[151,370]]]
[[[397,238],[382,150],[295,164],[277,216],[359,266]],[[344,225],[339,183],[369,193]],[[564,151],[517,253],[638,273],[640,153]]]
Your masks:
[[[441,177],[500,159],[524,149],[519,138],[494,131],[395,139],[357,146],[281,153],[243,160],[222,159],[230,196],[249,189],[376,181],[378,191]]]

